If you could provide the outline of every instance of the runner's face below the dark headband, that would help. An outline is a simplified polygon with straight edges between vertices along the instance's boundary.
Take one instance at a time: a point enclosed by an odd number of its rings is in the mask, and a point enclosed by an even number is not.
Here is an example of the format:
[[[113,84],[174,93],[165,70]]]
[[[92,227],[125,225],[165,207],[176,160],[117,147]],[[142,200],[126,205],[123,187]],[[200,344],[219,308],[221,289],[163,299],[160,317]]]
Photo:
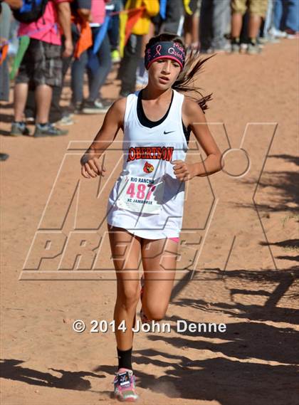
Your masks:
[[[181,67],[177,61],[168,58],[161,58],[154,61],[149,68],[149,75],[152,83],[159,89],[171,88]]]

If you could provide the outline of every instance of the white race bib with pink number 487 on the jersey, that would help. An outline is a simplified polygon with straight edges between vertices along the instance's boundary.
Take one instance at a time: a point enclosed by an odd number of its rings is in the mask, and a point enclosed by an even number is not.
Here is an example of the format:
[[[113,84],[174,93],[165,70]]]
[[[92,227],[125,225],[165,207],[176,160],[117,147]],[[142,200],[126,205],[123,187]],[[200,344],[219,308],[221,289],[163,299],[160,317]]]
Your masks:
[[[159,214],[164,194],[163,179],[125,176],[120,182],[116,205],[145,214]]]

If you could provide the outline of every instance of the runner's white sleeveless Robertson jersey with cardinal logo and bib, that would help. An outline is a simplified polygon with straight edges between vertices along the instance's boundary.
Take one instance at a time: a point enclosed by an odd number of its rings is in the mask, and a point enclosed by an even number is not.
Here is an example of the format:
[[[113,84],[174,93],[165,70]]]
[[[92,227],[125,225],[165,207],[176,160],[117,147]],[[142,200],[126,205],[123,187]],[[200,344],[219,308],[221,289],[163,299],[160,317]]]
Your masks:
[[[138,95],[140,91],[127,96],[123,167],[110,191],[107,223],[142,238],[177,238],[182,228],[185,182],[175,177],[170,161],[184,161],[188,149],[182,125],[184,95],[173,90],[167,114],[154,127],[140,122]]]

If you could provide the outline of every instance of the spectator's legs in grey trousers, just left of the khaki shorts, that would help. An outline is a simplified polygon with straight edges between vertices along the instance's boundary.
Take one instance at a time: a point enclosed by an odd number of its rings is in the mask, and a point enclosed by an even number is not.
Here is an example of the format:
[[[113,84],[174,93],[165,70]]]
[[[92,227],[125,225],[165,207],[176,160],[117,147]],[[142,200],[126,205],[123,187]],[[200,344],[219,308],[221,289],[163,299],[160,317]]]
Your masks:
[[[244,2],[246,3],[246,0]],[[225,34],[230,16],[229,0],[201,1],[199,22],[201,53],[225,52],[228,50]]]

